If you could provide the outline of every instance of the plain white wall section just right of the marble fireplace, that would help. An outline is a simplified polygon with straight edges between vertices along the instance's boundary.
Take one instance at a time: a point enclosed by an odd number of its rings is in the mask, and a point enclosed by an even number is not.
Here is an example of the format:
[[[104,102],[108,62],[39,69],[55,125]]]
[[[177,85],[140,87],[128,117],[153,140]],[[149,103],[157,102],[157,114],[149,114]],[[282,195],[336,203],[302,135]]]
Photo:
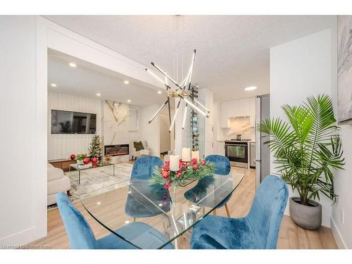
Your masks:
[[[153,156],[160,156],[160,120],[157,116],[150,124],[148,121],[159,107],[155,104],[139,108],[140,139],[146,141],[146,144],[151,148],[151,155]]]

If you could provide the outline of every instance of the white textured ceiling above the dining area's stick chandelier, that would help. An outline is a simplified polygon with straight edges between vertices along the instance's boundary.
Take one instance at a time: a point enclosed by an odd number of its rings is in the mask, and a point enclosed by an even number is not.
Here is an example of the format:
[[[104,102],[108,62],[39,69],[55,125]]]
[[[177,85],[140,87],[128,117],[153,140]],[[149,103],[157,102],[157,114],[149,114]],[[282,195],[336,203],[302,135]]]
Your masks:
[[[178,58],[188,67],[197,49],[194,82],[226,101],[269,92],[269,50],[332,27],[320,15],[48,15],[74,32],[144,65],[151,61],[175,76]],[[178,37],[176,37],[178,19]],[[178,56],[176,51],[178,51]],[[182,58],[183,62],[182,63]],[[252,92],[244,87],[257,86]]]

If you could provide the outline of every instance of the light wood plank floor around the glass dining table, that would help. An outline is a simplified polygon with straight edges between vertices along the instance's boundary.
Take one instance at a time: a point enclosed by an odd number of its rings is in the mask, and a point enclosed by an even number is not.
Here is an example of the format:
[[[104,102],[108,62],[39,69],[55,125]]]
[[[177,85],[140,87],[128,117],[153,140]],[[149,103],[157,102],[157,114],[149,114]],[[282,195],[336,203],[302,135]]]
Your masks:
[[[256,189],[255,170],[247,170],[244,180],[240,186],[234,191],[232,198],[227,203],[232,218],[239,218],[249,213],[251,203],[253,201]],[[108,230],[102,227],[94,220],[82,204],[77,201],[74,203],[80,212],[91,225],[96,238],[100,238],[109,234]],[[123,213],[122,213],[123,214]],[[225,206],[216,210],[217,215],[227,216]],[[179,239],[180,249],[189,249],[189,239],[191,233],[184,234]],[[48,211],[48,235],[42,239],[34,241],[32,244],[49,245],[51,249],[69,249],[70,244],[65,232],[65,227],[61,221],[58,209]],[[320,227],[319,230],[303,230],[294,224],[291,218],[284,215],[282,225],[279,231],[277,241],[277,249],[337,249],[337,244],[332,237],[332,232],[327,227]]]

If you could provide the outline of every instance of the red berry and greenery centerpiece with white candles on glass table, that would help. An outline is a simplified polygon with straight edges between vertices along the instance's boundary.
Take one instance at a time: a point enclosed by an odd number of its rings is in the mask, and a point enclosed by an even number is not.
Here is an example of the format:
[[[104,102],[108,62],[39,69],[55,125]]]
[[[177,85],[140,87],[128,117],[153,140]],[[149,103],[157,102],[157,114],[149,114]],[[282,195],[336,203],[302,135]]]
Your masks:
[[[182,186],[189,180],[200,180],[213,175],[215,171],[213,163],[207,163],[205,160],[199,161],[199,158],[185,158],[184,154],[187,155],[188,152],[190,150],[183,148],[182,158],[170,156],[170,161],[166,161],[163,167],[156,166],[149,182],[161,184],[165,189],[169,189],[172,185]],[[199,156],[199,151],[192,151],[192,154]]]

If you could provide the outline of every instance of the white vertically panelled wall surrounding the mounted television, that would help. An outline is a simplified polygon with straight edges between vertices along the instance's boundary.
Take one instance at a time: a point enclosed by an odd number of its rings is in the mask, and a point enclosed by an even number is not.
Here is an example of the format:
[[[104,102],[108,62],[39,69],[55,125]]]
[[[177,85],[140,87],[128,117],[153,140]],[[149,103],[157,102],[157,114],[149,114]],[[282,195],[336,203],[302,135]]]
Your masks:
[[[58,92],[48,93],[48,159],[68,158],[72,153],[87,153],[92,134],[51,134],[51,109],[96,113],[96,134],[101,135],[101,100]]]

